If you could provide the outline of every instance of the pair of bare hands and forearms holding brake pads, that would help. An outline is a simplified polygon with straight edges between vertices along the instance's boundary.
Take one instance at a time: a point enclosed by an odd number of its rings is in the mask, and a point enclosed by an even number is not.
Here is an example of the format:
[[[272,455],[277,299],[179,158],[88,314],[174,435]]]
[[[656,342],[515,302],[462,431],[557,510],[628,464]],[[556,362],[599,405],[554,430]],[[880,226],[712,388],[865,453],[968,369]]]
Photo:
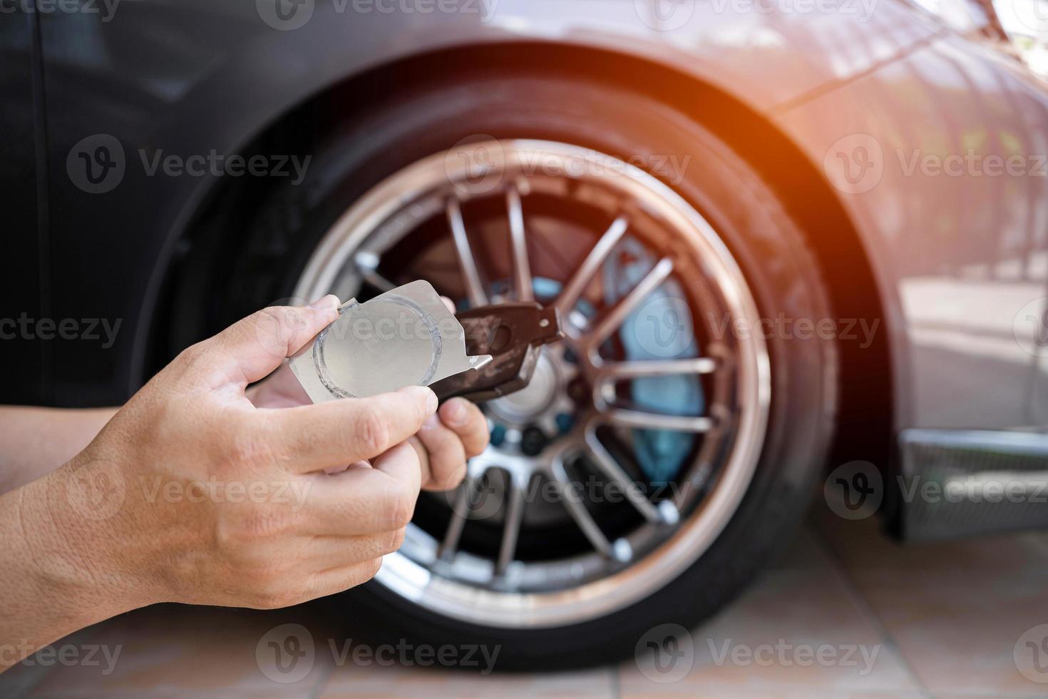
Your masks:
[[[259,311],[115,413],[0,411],[18,455],[0,495],[0,669],[153,603],[286,607],[377,572],[419,489],[455,486],[487,425],[423,387],[310,403],[284,359],[336,316],[334,297]]]

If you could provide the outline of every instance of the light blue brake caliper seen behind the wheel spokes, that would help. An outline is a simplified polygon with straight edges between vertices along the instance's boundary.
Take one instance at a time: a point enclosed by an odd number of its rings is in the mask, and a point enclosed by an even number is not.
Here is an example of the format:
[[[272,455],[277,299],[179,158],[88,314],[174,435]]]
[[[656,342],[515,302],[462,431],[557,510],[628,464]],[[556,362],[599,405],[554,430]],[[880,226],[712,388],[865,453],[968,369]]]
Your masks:
[[[602,270],[605,301],[619,301],[654,265],[654,256],[643,245],[630,238],[623,240]],[[683,299],[680,285],[671,279],[641,302],[618,332],[626,359],[698,356],[691,312]],[[697,415],[704,406],[699,377],[686,374],[635,378],[630,398],[638,408],[669,415]],[[648,428],[633,429],[632,436],[640,468],[655,486],[677,475],[695,440],[686,432]]]

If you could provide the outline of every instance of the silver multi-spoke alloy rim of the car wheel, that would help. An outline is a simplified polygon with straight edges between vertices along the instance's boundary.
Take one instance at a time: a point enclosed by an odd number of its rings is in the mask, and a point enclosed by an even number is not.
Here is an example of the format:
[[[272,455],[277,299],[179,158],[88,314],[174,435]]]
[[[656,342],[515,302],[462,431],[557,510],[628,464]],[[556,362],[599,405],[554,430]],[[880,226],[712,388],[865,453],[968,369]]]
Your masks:
[[[294,294],[316,298],[334,291],[348,298],[365,284],[376,290],[391,287],[381,275],[384,253],[411,236],[421,221],[440,217],[471,305],[533,298],[525,217],[529,197],[580,196],[580,192],[604,202],[608,221],[555,299],[549,300],[567,320],[568,337],[563,346],[544,350],[541,371],[537,370],[527,393],[501,399],[504,402],[488,406],[486,412],[493,421],[516,425],[509,429],[540,418],[548,424],[550,417],[555,421],[563,414],[556,411],[565,409],[568,387],[577,394],[582,384],[586,396],[580,403],[575,395],[572,427],[538,454],[492,446],[472,459],[466,483],[446,497],[451,515],[445,530],[427,531],[413,523],[401,550],[386,558],[376,581],[438,614],[483,626],[536,628],[575,624],[623,609],[675,578],[713,544],[752,478],[770,401],[767,348],[760,333],[723,330],[736,324],[758,328],[756,303],[727,246],[695,207],[658,179],[617,158],[562,143],[494,139],[460,144],[423,158],[372,188],[335,221],[307,263]],[[511,271],[501,293],[485,280],[473,249],[476,239],[471,240],[463,216],[471,202],[493,198],[504,201],[509,239]],[[648,234],[633,234],[655,254],[651,268],[605,312],[583,316],[578,308],[587,289],[634,230],[651,232],[650,239],[642,238]],[[665,236],[661,242],[660,231]],[[671,278],[686,278],[693,315],[700,305],[709,313],[693,321],[696,332],[703,326],[711,340],[701,355],[633,361],[602,356],[602,348],[623,323]],[[706,327],[712,325],[717,327]],[[616,386],[677,374],[703,376],[709,383],[712,398],[704,414],[645,413],[619,405]],[[669,497],[655,498],[638,485],[635,469],[627,469],[604,444],[599,431],[606,428],[683,431],[701,435],[701,443],[678,488]],[[604,533],[588,503],[571,497],[569,462],[575,457],[619,484],[624,494],[619,506],[633,508],[641,526],[614,539]],[[502,532],[497,553],[478,555],[458,544],[462,530],[478,519],[482,508],[475,496],[492,473],[501,477],[503,492],[495,498],[494,515],[483,517],[500,521]],[[591,551],[549,561],[515,559],[537,474],[556,486],[558,506],[583,532]],[[700,476],[701,487],[696,485]]]

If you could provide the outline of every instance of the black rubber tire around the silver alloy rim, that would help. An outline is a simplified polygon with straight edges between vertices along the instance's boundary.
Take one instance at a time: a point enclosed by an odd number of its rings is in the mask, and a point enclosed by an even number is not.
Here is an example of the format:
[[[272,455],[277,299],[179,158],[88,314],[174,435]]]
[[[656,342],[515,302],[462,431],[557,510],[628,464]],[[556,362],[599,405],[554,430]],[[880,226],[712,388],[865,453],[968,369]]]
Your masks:
[[[727,243],[761,316],[832,316],[802,232],[755,171],[701,125],[664,104],[609,85],[485,74],[373,103],[329,134],[313,151],[306,180],[266,197],[247,226],[242,263],[220,307],[240,313],[264,305],[278,288],[287,296],[316,241],[362,193],[421,157],[480,134],[560,140],[624,159],[690,156],[683,179],[668,183]],[[260,293],[253,283],[259,269],[277,286]],[[500,670],[607,663],[631,656],[638,639],[657,625],[698,624],[730,602],[789,544],[826,458],[836,406],[834,345],[795,337],[768,343],[770,422],[749,489],[714,545],[657,593],[602,618],[536,630],[442,617],[375,582],[324,603],[345,618],[347,635],[354,638],[393,643],[403,638],[435,648],[501,646]]]

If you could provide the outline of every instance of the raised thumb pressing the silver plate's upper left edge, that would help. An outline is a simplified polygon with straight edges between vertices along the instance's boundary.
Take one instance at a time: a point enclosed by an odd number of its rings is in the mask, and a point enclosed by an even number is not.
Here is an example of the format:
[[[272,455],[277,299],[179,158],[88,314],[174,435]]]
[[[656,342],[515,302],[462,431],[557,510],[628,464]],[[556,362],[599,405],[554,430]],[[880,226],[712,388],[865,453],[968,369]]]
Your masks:
[[[263,308],[206,341],[209,350],[227,375],[257,381],[339,318],[339,297],[328,294],[308,306]]]

